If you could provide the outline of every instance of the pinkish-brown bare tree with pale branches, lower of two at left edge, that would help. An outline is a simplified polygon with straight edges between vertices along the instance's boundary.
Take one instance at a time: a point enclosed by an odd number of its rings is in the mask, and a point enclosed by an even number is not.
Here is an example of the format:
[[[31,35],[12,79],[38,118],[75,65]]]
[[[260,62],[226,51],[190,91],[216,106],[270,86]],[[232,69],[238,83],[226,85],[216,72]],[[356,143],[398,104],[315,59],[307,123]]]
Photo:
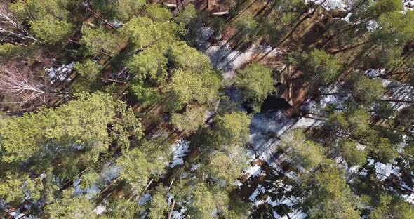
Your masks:
[[[16,67],[0,67],[0,94],[13,99],[13,101],[2,103],[40,105],[48,98],[65,97],[61,93],[49,90],[39,80],[36,80],[29,69],[23,69],[23,71],[24,73]]]

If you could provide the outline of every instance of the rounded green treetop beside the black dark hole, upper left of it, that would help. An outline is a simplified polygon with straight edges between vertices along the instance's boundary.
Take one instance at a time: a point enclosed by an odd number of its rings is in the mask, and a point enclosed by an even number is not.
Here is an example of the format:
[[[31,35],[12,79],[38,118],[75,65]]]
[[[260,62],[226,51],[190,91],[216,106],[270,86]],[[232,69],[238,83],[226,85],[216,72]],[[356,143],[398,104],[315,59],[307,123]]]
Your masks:
[[[254,62],[239,70],[234,84],[241,89],[244,100],[250,103],[253,110],[260,112],[260,105],[274,91],[275,81],[272,69]]]

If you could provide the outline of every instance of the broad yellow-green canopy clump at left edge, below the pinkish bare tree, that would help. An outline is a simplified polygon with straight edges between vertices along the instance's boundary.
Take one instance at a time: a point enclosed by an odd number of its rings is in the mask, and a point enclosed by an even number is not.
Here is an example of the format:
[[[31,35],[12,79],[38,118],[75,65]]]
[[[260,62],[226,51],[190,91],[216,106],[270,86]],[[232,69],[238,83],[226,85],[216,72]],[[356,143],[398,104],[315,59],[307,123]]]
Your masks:
[[[128,148],[128,137],[140,138],[140,121],[131,109],[125,109],[123,102],[110,95],[81,94],[56,109],[43,108],[36,114],[4,119],[0,126],[1,161],[13,164],[32,159],[37,162],[32,171],[44,171],[52,162],[63,161],[55,166],[63,171],[58,174],[72,178],[74,173],[66,175],[66,168],[76,169],[97,161],[113,141]]]

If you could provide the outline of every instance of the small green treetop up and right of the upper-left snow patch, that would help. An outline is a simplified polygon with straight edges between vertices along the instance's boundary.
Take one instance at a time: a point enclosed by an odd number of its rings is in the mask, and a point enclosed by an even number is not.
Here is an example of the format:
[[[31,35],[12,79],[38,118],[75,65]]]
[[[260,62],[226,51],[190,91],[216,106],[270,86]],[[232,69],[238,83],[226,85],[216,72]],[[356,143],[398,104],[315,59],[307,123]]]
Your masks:
[[[118,53],[119,47],[123,44],[123,39],[118,34],[112,34],[102,28],[84,27],[82,42],[91,55],[99,56],[102,53],[114,55]]]

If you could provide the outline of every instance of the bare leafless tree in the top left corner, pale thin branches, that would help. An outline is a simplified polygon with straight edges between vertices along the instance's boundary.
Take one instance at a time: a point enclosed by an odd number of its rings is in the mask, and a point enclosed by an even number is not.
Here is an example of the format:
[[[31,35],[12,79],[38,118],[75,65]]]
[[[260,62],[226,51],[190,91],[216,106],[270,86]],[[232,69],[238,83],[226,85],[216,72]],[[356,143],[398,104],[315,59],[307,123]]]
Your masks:
[[[4,4],[0,4],[0,33],[4,34],[0,41],[17,38],[27,39],[38,43],[41,42],[25,29],[22,22],[10,13]]]

